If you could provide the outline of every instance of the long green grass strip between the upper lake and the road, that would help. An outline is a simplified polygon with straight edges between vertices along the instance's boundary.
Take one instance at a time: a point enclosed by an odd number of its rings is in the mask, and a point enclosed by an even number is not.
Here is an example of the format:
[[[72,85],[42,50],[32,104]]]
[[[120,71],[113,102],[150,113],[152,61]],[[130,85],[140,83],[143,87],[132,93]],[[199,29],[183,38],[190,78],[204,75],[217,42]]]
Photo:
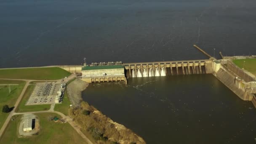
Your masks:
[[[59,67],[0,69],[0,78],[27,80],[59,80],[71,75]]]

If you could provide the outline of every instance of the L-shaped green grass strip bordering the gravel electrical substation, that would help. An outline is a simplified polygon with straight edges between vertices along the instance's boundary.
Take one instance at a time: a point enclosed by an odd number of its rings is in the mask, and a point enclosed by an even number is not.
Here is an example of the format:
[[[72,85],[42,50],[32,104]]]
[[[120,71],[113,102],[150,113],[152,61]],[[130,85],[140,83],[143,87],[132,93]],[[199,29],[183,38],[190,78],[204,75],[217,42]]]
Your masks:
[[[35,85],[29,85],[27,90],[24,93],[24,96],[21,99],[19,106],[16,109],[16,112],[36,112],[48,110],[51,108],[51,104],[40,104],[40,105],[29,105],[26,106],[26,102],[29,99],[31,93],[33,92]]]

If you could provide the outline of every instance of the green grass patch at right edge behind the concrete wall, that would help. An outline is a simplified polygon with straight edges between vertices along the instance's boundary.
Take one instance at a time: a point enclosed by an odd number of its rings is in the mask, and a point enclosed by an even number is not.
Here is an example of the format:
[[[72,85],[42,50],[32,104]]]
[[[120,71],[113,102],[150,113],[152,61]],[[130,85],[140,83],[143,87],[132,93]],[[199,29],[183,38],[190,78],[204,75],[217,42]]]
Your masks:
[[[243,68],[245,61],[245,70],[256,76],[256,59],[235,59],[233,62],[240,68]]]

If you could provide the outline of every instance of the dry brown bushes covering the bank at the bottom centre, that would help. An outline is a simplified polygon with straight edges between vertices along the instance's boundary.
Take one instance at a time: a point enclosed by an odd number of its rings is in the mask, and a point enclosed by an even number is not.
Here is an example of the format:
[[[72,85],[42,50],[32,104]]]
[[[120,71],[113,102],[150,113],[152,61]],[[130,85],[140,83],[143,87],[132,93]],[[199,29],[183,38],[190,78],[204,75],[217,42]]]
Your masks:
[[[89,111],[89,114],[88,114]],[[70,116],[81,128],[89,131],[99,144],[145,144],[146,142],[124,125],[113,122],[86,102],[81,107],[69,109]]]

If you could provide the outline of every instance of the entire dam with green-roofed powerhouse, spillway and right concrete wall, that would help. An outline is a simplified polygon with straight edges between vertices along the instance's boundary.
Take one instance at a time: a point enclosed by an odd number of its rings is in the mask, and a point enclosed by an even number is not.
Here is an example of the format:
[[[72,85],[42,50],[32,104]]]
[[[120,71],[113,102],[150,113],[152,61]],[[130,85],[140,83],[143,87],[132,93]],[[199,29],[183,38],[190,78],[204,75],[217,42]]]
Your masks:
[[[200,51],[203,51],[200,49]],[[221,54],[222,56],[222,54]],[[254,59],[256,56],[245,57]],[[122,63],[99,62],[75,66],[57,66],[69,72],[80,73],[81,80],[87,83],[124,81],[132,77],[165,77],[169,75],[213,74],[233,91],[240,99],[252,101],[256,107],[256,77],[237,67],[230,57],[216,60],[184,60]],[[233,57],[232,57],[233,59]]]

